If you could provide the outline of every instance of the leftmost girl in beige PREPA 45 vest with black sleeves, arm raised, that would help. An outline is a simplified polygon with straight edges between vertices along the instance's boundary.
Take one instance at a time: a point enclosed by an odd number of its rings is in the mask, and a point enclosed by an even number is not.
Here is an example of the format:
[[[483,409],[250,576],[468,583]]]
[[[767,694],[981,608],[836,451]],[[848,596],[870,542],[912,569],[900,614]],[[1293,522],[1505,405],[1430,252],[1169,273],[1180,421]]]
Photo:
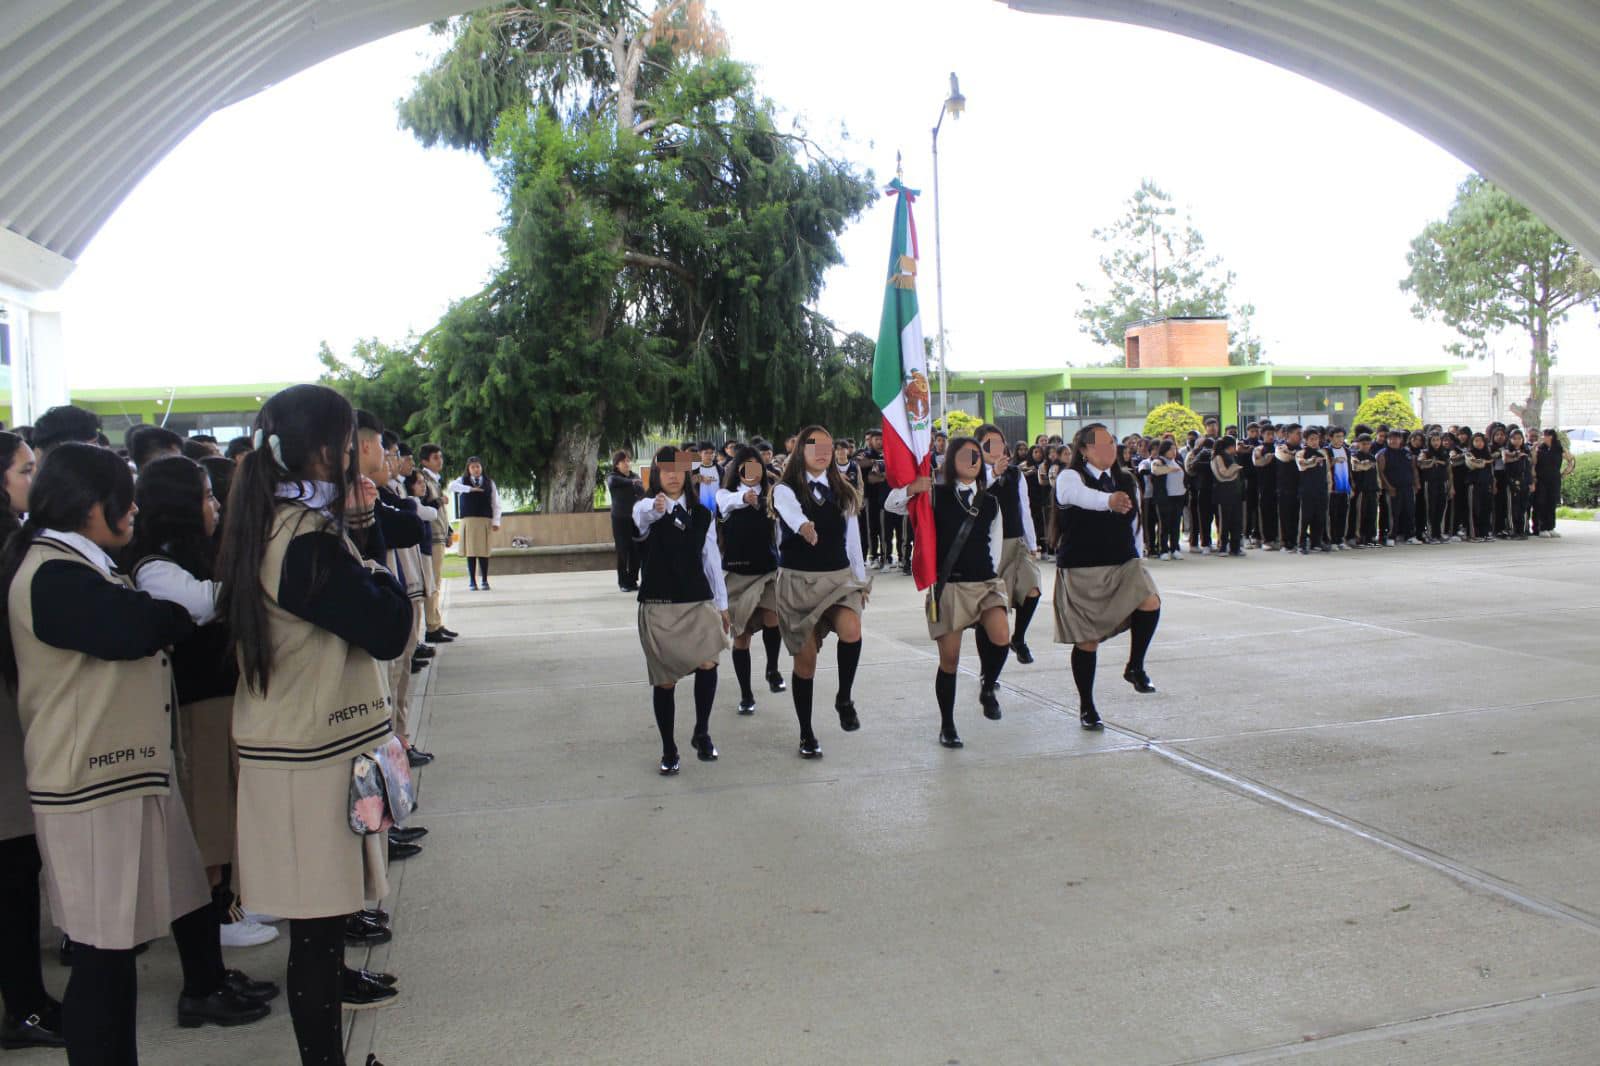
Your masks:
[[[62,443],[0,555],[0,669],[16,685],[51,917],[74,941],[61,1020],[74,1066],[138,1061],[134,949],[168,930],[184,970],[179,1024],[259,1021],[277,992],[229,984],[205,868],[171,795],[168,648],[194,623],[117,570],[134,511],[126,463]]]

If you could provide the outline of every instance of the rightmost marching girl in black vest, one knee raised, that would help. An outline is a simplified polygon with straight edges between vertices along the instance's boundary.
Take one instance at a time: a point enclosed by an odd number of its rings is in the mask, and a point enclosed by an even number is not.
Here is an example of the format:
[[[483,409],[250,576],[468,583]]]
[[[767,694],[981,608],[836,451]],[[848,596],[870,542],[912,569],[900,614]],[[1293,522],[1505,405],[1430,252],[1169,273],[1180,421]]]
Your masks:
[[[1139,559],[1133,475],[1117,463],[1117,439],[1104,423],[1072,437],[1072,466],[1056,480],[1066,525],[1056,555],[1056,643],[1072,645],[1078,723],[1099,730],[1094,666],[1099,643],[1133,631],[1122,677],[1134,691],[1155,685],[1144,656],[1162,618],[1162,597]]]

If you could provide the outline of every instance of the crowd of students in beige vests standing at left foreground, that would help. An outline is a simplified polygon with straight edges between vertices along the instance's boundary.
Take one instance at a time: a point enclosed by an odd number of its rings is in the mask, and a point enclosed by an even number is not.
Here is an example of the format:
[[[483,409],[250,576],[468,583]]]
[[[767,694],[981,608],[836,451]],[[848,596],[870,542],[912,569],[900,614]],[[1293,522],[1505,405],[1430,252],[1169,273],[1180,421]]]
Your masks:
[[[138,426],[114,450],[75,407],[0,432],[0,1045],[136,1063],[136,956],[168,932],[178,1023],[238,1026],[278,984],[222,948],[286,922],[306,1066],[346,1061],[342,1010],[398,994],[344,951],[390,940],[387,868],[427,834],[397,820],[432,762],[411,677],[458,635],[443,463],[320,386],[226,447]],[[482,464],[450,488],[498,523]],[[381,770],[376,812],[360,767]]]

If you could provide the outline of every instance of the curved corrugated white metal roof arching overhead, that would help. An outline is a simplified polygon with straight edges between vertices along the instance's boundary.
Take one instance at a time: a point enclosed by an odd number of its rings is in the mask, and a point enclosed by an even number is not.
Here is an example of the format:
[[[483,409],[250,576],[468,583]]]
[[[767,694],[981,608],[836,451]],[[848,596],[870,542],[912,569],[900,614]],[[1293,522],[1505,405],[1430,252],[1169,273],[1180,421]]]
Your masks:
[[[1590,0],[998,0],[1206,40],[1411,126],[1600,258]],[[0,282],[56,288],[211,112],[461,0],[5,0]]]

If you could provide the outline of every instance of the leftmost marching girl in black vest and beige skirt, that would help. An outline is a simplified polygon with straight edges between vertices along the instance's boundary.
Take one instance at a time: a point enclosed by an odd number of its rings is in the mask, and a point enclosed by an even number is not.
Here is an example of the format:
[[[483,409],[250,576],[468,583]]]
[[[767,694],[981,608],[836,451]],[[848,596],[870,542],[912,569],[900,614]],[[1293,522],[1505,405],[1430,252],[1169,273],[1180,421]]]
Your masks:
[[[691,453],[670,445],[650,464],[645,498],[634,504],[643,579],[638,584],[638,643],[645,650],[661,731],[661,775],[678,771],[674,731],[677,683],[694,675],[694,733],[690,743],[701,762],[717,760],[710,739],[710,709],[717,699],[717,659],[731,629],[722,552],[710,535],[712,512],[691,485]]]

